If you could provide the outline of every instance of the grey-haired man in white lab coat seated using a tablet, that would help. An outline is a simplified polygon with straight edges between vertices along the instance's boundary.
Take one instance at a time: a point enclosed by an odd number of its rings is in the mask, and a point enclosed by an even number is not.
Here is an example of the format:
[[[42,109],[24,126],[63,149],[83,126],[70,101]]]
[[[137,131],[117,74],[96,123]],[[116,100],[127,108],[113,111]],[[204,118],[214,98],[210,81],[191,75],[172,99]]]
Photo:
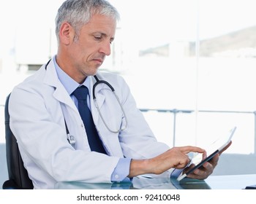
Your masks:
[[[195,146],[170,149],[157,142],[124,79],[99,73],[110,55],[116,20],[118,12],[108,1],[64,1],[56,16],[57,55],[12,91],[10,126],[34,189],[53,189],[59,181],[97,183],[146,173],[169,175],[173,168],[187,165],[187,153],[204,152]],[[95,95],[107,125],[102,121],[92,97],[95,74],[116,90],[127,119],[110,88],[99,84]],[[89,146],[78,99],[72,94],[80,85],[89,89],[89,109],[105,154]],[[126,123],[118,133],[108,130]],[[74,140],[67,140],[67,131]],[[207,178],[217,160],[218,155],[189,176]]]

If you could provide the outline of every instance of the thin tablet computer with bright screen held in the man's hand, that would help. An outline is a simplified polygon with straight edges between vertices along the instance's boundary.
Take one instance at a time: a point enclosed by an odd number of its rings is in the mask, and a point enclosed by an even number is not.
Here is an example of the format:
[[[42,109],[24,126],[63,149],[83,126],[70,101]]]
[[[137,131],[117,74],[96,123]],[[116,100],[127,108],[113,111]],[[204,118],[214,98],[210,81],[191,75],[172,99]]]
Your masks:
[[[208,162],[212,157],[221,152],[222,149],[224,149],[225,146],[230,143],[235,131],[236,127],[233,127],[226,136],[222,136],[221,138],[214,141],[214,143],[212,143],[210,146],[208,146],[208,148],[206,148],[206,154],[208,156],[204,160],[202,160],[203,154],[196,154],[194,157],[192,157],[192,160],[189,162],[186,168],[189,168],[189,166],[192,164],[195,166],[187,170],[187,172],[181,172],[177,180],[181,181],[181,179],[185,178],[187,175],[189,175],[189,173],[192,173],[197,168],[200,168],[200,166],[202,166],[205,162]]]

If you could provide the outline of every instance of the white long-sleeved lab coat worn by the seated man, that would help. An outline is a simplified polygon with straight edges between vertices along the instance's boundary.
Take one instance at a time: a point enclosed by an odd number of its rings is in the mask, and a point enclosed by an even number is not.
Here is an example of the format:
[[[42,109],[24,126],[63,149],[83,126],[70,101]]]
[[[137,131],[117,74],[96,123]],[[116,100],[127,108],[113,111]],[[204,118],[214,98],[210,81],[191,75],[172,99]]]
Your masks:
[[[154,138],[124,79],[109,73],[97,76],[116,89],[127,114],[127,129],[121,133],[110,133],[91,97],[94,123],[109,156],[91,152],[83,121],[58,79],[53,60],[47,69],[42,66],[12,90],[10,127],[35,189],[53,189],[60,181],[110,182],[120,157],[143,159],[169,149]],[[91,96],[94,82],[94,78],[91,79]],[[98,85],[96,95],[99,109],[109,126],[119,128],[123,118],[113,93],[106,85]],[[75,136],[75,149],[67,141],[64,119],[70,135]]]

